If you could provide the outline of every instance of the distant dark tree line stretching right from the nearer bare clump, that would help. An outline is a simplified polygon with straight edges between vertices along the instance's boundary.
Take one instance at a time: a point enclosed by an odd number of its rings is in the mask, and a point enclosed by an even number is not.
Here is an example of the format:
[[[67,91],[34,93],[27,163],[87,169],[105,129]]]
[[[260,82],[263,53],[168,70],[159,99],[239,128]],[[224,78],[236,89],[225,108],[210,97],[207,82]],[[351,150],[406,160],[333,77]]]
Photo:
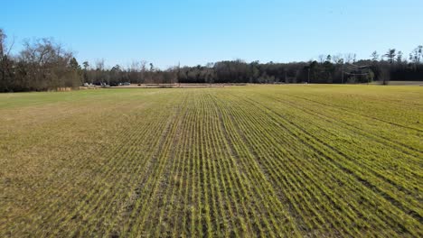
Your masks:
[[[84,62],[83,81],[93,84],[172,83],[368,83],[380,80],[423,80],[423,47],[418,46],[404,59],[401,51],[390,49],[371,59],[355,59],[353,54],[319,56],[318,60],[290,63],[245,62],[241,59],[219,61],[194,67],[156,69],[146,61],[133,62],[127,69],[119,65],[104,69],[104,60],[92,67]]]

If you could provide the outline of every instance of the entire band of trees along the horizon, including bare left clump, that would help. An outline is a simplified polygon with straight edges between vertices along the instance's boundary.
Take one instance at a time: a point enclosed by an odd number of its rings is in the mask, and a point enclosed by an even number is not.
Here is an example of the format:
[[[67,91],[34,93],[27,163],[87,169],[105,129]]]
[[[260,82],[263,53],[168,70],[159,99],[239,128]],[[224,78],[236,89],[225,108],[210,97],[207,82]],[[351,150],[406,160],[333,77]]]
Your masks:
[[[356,59],[354,54],[320,55],[317,60],[290,63],[245,62],[241,59],[219,61],[194,67],[155,68],[144,60],[129,67],[108,69],[98,59],[93,65],[80,63],[70,50],[51,39],[24,41],[23,50],[11,54],[0,29],[0,92],[57,90],[61,87],[96,85],[174,84],[174,83],[368,83],[379,80],[423,80],[423,46],[405,57],[389,49],[371,53],[371,59]]]

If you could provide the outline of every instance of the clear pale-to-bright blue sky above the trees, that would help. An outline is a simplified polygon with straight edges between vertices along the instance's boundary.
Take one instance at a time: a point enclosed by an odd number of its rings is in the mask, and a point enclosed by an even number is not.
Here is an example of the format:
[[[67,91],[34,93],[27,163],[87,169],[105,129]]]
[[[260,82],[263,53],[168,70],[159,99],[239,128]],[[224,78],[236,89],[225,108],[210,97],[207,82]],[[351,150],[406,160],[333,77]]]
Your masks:
[[[320,54],[403,50],[423,44],[423,1],[2,1],[0,27],[15,38],[52,37],[80,62],[132,60],[165,68],[222,59],[268,62]]]

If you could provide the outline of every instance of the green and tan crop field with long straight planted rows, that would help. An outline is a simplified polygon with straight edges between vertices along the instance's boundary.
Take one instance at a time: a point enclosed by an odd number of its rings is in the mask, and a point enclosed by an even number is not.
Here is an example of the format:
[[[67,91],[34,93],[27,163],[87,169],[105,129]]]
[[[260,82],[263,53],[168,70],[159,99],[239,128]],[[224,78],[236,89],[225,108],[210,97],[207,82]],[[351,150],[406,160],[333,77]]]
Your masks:
[[[0,237],[423,236],[423,87],[0,95]]]

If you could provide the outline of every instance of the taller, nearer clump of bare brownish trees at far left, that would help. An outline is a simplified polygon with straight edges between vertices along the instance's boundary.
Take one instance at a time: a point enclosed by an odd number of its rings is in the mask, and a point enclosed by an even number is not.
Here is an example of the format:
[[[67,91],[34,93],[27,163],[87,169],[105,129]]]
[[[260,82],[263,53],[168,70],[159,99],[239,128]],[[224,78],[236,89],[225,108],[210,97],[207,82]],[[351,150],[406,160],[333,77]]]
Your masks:
[[[69,50],[51,39],[24,41],[17,55],[6,46],[0,29],[0,92],[45,91],[61,87],[79,87],[77,60]]]

